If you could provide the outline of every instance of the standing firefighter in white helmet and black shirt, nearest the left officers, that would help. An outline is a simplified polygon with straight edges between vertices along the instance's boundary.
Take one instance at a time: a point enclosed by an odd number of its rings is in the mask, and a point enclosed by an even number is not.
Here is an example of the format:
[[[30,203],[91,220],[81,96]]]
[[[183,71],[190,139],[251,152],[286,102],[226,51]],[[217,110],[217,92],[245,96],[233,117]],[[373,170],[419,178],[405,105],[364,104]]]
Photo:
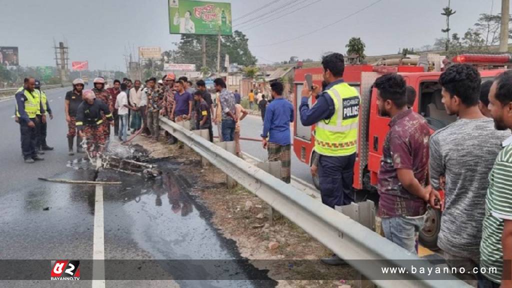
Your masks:
[[[83,153],[80,143],[82,139],[80,136],[77,136],[76,131],[76,112],[78,111],[78,106],[82,102],[82,91],[85,86],[82,79],[77,78],[73,80],[73,90],[68,91],[66,93],[66,97],[64,100],[64,111],[66,113],[66,122],[68,122],[68,154],[74,155],[73,152],[73,140],[76,136],[76,152]]]

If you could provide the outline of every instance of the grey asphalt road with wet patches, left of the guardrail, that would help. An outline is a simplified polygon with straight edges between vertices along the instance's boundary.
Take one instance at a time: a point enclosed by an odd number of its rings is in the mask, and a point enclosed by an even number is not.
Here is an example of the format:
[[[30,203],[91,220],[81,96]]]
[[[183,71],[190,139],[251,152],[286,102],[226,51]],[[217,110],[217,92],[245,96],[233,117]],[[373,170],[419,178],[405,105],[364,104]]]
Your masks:
[[[275,282],[264,272],[249,266],[231,265],[220,272],[207,270],[197,259],[239,259],[233,241],[224,238],[212,227],[205,207],[189,194],[195,186],[194,176],[181,171],[182,163],[159,163],[164,175],[153,181],[141,181],[109,171],[98,179],[122,181],[122,186],[89,187],[42,182],[38,177],[92,180],[94,171],[83,169],[87,163],[81,156],[67,154],[67,125],[63,116],[63,96],[68,89],[47,92],[55,118],[49,121],[48,143],[55,147],[47,152],[45,161],[25,164],[20,151],[19,126],[11,117],[14,100],[0,101],[0,259],[39,259],[44,270],[32,270],[47,281],[0,281],[2,287],[104,287],[91,281],[48,281],[50,260],[81,260],[81,277],[92,275],[91,259],[188,259],[189,262],[167,263],[159,268],[150,264],[147,275],[167,281],[140,283],[137,281],[106,281],[106,287],[273,287]],[[89,260],[89,261],[88,261]],[[28,264],[29,262],[25,262]],[[45,264],[46,263],[46,264]],[[136,274],[123,267],[129,264],[141,269],[140,261],[114,265],[104,263],[106,277],[125,279]],[[212,269],[225,267],[218,261],[209,262]],[[0,266],[9,268],[0,261]],[[7,265],[7,267],[6,267]],[[110,265],[110,266],[109,266]],[[95,262],[95,269],[101,268]],[[144,268],[144,267],[143,267]],[[101,273],[102,270],[99,272]],[[42,274],[41,274],[42,273]],[[119,276],[118,273],[129,275]],[[152,274],[153,273],[153,274]],[[155,274],[158,273],[158,274]],[[24,278],[26,270],[18,277]],[[166,275],[165,278],[162,275]],[[226,279],[247,275],[261,281],[186,281],[223,275]],[[244,276],[245,275],[245,276]],[[6,279],[5,273],[0,279]],[[29,277],[29,276],[27,276]],[[33,276],[37,278],[38,276]],[[245,278],[244,278],[245,277]],[[19,279],[19,278],[18,278]],[[175,279],[175,280],[169,280]],[[99,285],[98,285],[99,284]],[[96,285],[96,286],[95,286]]]

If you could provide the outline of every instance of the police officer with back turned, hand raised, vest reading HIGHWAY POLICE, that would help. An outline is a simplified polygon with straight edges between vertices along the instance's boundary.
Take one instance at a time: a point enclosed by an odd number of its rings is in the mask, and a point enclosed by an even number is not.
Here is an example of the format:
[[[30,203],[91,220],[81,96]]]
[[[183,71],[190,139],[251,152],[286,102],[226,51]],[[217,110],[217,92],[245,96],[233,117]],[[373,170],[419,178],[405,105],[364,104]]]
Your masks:
[[[318,154],[318,176],[322,202],[331,208],[354,201],[352,183],[359,127],[359,93],[343,80],[345,61],[342,54],[322,58],[325,89],[305,83],[300,106],[304,126],[316,124],[314,151]],[[322,92],[323,90],[323,92]],[[309,97],[316,97],[310,108]],[[336,255],[322,259],[327,264],[342,264]]]

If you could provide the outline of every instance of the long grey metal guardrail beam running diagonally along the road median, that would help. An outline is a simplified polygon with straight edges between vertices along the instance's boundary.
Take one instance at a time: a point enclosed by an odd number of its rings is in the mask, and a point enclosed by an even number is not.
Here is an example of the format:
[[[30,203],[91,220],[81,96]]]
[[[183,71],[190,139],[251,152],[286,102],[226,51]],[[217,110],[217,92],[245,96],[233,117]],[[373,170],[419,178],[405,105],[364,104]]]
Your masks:
[[[408,271],[411,263],[416,267],[431,268],[434,271],[436,267],[321,202],[312,201],[311,197],[291,185],[183,129],[175,122],[160,117],[160,126],[380,287],[471,287],[452,275],[443,275],[443,280],[432,280],[427,275],[411,272],[394,274],[392,278],[383,277],[383,267],[406,268]],[[388,280],[381,280],[382,278]]]

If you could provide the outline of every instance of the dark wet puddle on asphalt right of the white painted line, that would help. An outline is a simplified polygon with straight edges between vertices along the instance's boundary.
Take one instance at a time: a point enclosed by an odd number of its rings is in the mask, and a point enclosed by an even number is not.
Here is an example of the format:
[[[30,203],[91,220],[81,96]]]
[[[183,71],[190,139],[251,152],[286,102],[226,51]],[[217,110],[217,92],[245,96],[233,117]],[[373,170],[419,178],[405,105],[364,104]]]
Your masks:
[[[106,259],[153,261],[159,273],[143,277],[172,278],[181,287],[275,287],[268,271],[244,260],[212,225],[211,212],[191,194],[196,171],[170,160],[158,166],[162,175],[155,179],[100,172],[98,179],[123,182],[104,187]]]

